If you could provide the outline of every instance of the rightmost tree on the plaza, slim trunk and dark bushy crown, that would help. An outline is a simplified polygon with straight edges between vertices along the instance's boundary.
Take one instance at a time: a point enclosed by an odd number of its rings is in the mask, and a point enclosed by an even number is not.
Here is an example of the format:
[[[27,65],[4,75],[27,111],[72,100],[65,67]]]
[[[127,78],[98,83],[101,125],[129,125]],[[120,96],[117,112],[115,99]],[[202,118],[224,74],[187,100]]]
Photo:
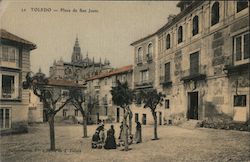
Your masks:
[[[139,93],[141,100],[144,104],[144,108],[149,108],[151,110],[152,116],[154,118],[154,140],[158,139],[157,135],[157,115],[156,115],[156,108],[157,105],[162,105],[163,98],[165,97],[164,94],[161,92],[157,92],[156,89],[152,90],[141,90]]]

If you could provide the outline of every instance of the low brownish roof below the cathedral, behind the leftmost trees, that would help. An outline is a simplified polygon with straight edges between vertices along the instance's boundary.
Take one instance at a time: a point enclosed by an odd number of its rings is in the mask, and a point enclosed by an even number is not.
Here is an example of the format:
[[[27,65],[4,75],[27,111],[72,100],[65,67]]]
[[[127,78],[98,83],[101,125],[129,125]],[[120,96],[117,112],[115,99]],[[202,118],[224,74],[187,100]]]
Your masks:
[[[84,86],[81,84],[76,83],[73,80],[63,80],[63,79],[49,79],[48,84],[49,86],[62,86],[62,87],[79,87],[83,88]]]

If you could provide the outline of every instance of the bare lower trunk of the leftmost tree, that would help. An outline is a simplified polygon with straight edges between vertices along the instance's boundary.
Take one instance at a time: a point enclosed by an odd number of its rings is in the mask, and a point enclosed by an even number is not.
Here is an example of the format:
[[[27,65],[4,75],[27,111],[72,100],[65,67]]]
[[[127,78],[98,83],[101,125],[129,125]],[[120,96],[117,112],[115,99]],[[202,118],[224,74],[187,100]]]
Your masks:
[[[55,114],[49,114],[48,115],[49,133],[50,133],[50,150],[51,151],[56,150],[54,117],[55,117]]]

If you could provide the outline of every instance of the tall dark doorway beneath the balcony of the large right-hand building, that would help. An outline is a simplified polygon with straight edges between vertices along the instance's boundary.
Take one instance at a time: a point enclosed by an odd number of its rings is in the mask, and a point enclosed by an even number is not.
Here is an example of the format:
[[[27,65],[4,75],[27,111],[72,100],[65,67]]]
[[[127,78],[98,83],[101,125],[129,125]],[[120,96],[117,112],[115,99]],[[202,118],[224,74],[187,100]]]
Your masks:
[[[198,92],[188,93],[188,119],[198,120]]]

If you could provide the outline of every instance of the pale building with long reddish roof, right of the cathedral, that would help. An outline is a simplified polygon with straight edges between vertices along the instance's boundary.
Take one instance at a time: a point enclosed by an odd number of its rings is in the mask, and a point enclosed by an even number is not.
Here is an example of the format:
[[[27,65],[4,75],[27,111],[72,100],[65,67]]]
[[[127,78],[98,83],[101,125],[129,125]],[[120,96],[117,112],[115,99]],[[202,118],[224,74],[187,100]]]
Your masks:
[[[117,80],[120,82],[128,82],[131,88],[132,72],[132,65],[128,65],[101,73],[86,80],[86,94],[95,98],[96,101],[91,111],[89,121],[92,123],[96,123],[99,120],[107,122],[122,121],[123,110],[113,104],[110,90],[113,86],[116,86]]]

